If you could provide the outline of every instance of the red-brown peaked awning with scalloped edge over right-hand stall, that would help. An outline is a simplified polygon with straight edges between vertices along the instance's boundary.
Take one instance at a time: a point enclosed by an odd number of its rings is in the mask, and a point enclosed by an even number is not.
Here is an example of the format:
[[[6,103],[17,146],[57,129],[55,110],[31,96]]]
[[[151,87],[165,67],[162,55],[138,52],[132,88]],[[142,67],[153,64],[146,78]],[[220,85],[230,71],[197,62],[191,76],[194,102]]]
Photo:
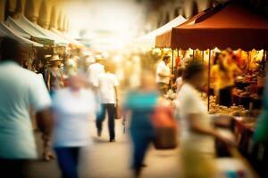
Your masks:
[[[157,47],[172,49],[268,49],[268,20],[238,2],[229,2],[197,14],[156,36]]]

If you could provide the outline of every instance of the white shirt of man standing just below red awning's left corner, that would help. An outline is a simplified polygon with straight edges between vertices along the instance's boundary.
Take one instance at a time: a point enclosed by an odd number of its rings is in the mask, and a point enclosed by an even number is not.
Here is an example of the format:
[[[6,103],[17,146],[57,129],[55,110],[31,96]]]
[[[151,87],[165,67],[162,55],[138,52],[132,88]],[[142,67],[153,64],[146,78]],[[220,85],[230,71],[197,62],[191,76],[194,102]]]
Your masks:
[[[157,65],[156,69],[156,83],[164,83],[169,84],[170,77],[160,77],[159,74],[162,74],[164,76],[171,75],[171,70],[163,61],[160,61]]]

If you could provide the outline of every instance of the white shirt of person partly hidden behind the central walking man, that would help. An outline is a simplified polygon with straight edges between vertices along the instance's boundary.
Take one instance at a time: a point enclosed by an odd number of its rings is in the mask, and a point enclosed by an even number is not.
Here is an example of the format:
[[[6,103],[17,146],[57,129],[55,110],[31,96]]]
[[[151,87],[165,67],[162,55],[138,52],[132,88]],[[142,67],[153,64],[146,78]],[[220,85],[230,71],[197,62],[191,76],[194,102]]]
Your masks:
[[[100,74],[105,73],[105,67],[99,63],[94,63],[88,66],[88,82],[91,85],[96,83],[96,79]]]

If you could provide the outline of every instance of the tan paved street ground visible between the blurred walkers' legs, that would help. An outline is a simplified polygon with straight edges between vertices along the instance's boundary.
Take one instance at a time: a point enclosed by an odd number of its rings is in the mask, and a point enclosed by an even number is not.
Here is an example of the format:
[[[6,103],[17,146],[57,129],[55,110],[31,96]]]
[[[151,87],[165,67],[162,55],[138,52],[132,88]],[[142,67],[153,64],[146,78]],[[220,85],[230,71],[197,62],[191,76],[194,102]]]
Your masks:
[[[123,134],[121,120],[116,121],[117,142],[108,141],[106,123],[104,134],[101,138],[96,137],[95,123],[92,125],[94,145],[90,150],[83,150],[81,161],[82,177],[93,178],[128,178],[130,172],[130,141],[128,134]],[[38,140],[38,145],[40,141]],[[144,169],[144,178],[172,178],[176,177],[178,150],[155,150],[150,149]],[[56,161],[37,161],[30,166],[32,178],[58,178],[60,177]]]

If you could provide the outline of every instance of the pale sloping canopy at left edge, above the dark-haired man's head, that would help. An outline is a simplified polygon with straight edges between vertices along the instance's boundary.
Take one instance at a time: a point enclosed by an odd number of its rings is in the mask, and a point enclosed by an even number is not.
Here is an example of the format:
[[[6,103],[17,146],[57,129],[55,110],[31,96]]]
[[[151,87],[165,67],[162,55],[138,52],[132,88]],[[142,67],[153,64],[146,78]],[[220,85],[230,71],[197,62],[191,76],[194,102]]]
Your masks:
[[[13,31],[13,29],[8,28],[6,25],[4,25],[4,23],[0,23],[0,36],[13,37],[14,39],[18,40],[21,44],[43,47],[43,44],[38,44],[36,42],[30,41],[29,39],[17,35],[16,32]]]

